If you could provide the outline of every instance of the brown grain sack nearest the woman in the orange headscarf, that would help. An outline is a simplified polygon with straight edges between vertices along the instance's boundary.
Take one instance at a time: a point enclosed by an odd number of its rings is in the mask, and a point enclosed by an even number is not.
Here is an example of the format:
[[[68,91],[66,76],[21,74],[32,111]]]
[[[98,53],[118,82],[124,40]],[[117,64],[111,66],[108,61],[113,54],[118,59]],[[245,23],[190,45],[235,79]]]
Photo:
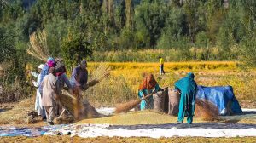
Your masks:
[[[154,99],[154,111],[156,112],[164,112],[165,108],[165,97],[167,94],[167,89],[163,89],[153,94]]]

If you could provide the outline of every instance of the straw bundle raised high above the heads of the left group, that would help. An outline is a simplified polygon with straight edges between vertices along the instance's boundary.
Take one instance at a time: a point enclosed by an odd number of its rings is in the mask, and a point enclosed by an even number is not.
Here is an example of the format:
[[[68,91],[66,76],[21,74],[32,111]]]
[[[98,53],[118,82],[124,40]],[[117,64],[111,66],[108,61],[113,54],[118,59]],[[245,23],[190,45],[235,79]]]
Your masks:
[[[46,61],[49,57],[49,49],[47,47],[46,32],[34,32],[29,37],[30,44],[29,48],[26,50],[27,54],[31,54],[38,60]]]

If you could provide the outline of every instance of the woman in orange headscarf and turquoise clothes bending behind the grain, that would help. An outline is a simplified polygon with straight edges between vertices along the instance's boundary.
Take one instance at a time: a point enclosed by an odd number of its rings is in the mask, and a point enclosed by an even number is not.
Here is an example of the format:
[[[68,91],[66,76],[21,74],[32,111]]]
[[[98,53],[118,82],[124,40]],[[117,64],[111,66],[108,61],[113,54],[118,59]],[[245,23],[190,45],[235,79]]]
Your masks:
[[[148,99],[145,99],[145,96],[148,94],[156,93],[160,89],[159,84],[155,81],[154,76],[150,74],[143,80],[143,83],[140,85],[138,90],[138,96],[141,101],[141,110],[144,109],[153,109],[153,96],[149,96]]]

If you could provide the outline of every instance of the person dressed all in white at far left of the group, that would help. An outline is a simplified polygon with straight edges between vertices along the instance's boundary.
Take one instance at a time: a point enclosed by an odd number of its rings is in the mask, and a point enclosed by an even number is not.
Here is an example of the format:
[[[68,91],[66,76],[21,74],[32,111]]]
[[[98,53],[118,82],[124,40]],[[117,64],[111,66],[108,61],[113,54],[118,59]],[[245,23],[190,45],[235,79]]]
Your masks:
[[[37,77],[37,82],[34,81],[34,80],[32,80],[32,83],[33,83],[33,85],[34,85],[35,87],[38,88],[38,89],[37,89],[37,95],[36,95],[36,102],[35,102],[35,111],[37,111],[37,112],[38,112],[38,116],[41,116],[41,117],[44,117],[44,116],[45,116],[45,115],[44,115],[44,112],[43,112],[43,108],[42,108],[42,106],[41,106],[41,94],[40,94],[40,92],[39,92],[39,85],[40,85],[40,81],[41,81],[41,79],[40,79],[40,77],[41,77],[40,73],[41,73],[43,67],[44,67],[44,64],[41,64],[41,65],[38,66],[38,72],[39,72],[39,74],[38,74],[37,72],[32,72],[32,71],[30,71],[30,73],[32,74],[33,77]]]

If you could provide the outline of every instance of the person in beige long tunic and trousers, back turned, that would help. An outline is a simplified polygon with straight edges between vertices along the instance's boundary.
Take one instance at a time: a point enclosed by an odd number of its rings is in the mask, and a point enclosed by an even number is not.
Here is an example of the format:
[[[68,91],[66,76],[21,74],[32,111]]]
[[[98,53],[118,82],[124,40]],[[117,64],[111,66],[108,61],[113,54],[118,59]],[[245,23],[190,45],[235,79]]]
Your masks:
[[[58,99],[54,67],[49,68],[49,75],[44,77],[41,86],[43,88],[42,106],[44,106],[48,124],[53,125],[55,100]]]

